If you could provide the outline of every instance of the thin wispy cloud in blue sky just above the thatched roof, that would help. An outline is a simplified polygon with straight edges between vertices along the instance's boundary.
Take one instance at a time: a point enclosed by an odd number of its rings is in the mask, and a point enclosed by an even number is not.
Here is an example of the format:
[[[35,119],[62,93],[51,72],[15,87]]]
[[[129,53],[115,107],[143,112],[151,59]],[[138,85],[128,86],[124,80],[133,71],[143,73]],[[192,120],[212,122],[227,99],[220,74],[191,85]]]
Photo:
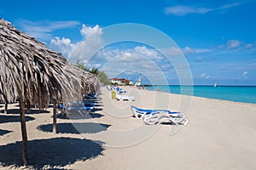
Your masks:
[[[66,21],[19,20],[17,22],[17,25],[20,27],[20,30],[25,31],[30,36],[43,41],[53,38],[52,31],[79,26],[79,24],[80,24],[79,21],[76,21],[76,20],[66,20]]]

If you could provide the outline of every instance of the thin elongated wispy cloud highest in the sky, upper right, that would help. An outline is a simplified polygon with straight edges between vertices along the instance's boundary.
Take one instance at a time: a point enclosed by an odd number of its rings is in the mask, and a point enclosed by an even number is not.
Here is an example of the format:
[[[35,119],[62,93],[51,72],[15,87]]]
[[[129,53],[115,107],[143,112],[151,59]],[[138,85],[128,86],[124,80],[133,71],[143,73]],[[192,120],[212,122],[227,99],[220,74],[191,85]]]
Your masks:
[[[165,8],[165,14],[173,14],[178,16],[183,16],[186,14],[207,14],[212,11],[224,10],[227,8],[232,8],[240,5],[240,3],[230,3],[218,8],[205,8],[205,7],[192,7],[192,6],[183,6],[177,5],[173,7]]]

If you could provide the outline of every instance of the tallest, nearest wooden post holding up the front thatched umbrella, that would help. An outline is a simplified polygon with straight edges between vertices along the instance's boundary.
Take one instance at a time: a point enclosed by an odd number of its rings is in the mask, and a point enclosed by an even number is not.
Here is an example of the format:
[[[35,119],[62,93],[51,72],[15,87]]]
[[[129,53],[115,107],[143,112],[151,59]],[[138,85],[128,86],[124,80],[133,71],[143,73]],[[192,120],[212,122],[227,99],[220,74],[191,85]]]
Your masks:
[[[26,155],[27,136],[26,136],[25,103],[24,103],[23,99],[20,99],[20,125],[21,125],[21,134],[22,134],[22,163],[24,166],[26,166],[26,164],[27,164],[27,155]]]

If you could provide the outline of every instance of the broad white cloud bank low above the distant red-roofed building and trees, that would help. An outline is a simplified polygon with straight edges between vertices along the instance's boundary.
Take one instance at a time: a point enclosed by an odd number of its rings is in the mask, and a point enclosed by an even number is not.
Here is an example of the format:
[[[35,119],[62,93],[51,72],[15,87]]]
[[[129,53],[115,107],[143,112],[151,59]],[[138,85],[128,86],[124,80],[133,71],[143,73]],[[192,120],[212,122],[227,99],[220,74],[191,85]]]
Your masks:
[[[172,69],[172,65],[162,64],[163,58],[164,56],[153,48],[137,46],[127,49],[106,48],[96,54],[92,62],[101,62],[102,69],[109,77],[134,71],[148,77],[152,82],[160,82],[165,80],[164,72]]]

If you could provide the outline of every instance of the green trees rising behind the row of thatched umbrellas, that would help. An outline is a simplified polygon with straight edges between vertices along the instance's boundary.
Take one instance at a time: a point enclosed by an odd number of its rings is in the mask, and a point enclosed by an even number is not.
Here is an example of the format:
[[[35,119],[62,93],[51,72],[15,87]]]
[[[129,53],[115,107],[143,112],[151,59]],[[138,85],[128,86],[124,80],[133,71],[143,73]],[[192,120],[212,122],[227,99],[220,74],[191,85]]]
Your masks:
[[[98,79],[100,80],[100,82],[102,82],[105,85],[110,85],[111,82],[109,82],[108,80],[108,76],[104,71],[99,71],[99,69],[92,67],[92,69],[88,69],[84,66],[84,62],[77,60],[77,62],[75,63],[75,65],[77,67],[79,67],[80,69],[84,70],[84,71],[89,71],[92,74],[95,74],[96,77],[98,77]]]

